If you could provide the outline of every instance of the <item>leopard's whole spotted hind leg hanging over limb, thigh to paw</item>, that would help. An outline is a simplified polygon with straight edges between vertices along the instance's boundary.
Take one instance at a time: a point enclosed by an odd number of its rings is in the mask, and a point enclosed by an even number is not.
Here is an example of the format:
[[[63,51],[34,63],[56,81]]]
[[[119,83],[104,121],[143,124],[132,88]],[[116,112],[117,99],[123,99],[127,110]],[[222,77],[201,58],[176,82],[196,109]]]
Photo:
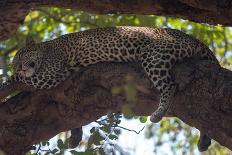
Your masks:
[[[149,46],[151,47],[151,46]],[[157,110],[151,115],[151,122],[159,122],[168,111],[174,96],[176,85],[174,84],[170,70],[173,65],[167,51],[157,51],[155,48],[146,48],[138,55],[138,60],[149,76],[155,88],[160,93],[160,103]],[[175,61],[175,60],[174,60]]]

